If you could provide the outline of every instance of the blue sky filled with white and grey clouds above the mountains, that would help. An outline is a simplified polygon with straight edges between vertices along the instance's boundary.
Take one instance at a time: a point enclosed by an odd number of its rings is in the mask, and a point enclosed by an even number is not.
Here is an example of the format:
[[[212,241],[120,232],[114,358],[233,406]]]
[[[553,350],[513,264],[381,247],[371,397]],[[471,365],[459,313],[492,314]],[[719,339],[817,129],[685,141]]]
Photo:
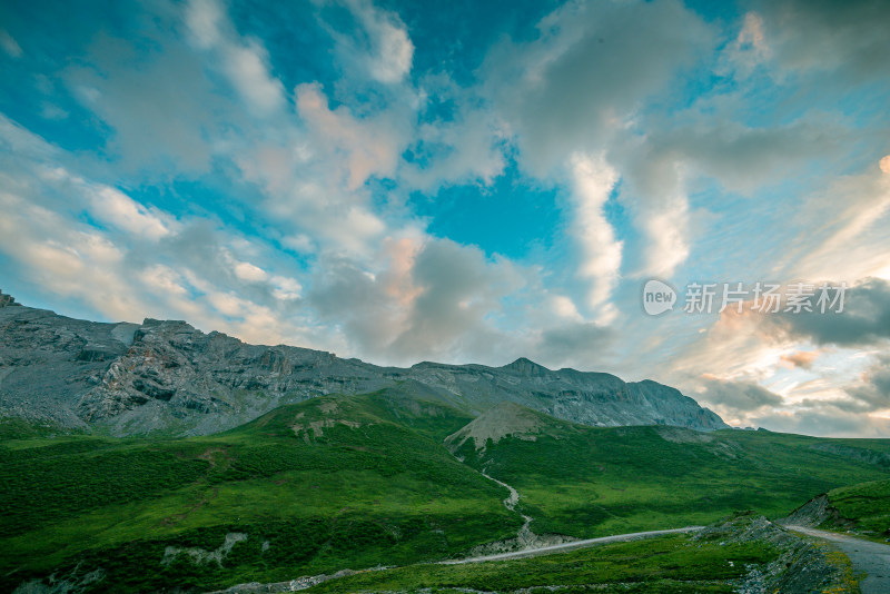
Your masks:
[[[4,0],[0,288],[890,437],[888,30],[881,0]]]

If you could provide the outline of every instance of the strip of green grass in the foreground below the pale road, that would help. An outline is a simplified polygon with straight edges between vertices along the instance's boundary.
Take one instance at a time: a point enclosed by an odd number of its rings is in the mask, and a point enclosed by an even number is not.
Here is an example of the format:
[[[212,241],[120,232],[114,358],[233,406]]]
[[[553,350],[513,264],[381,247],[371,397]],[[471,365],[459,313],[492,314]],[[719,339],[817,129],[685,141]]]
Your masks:
[[[510,592],[562,585],[568,591],[734,592],[726,582],[765,564],[779,552],[764,543],[720,545],[685,535],[600,545],[571,553],[463,565],[414,565],[332,580],[309,592],[416,592],[471,588]],[[613,587],[609,587],[609,585]],[[629,590],[630,587],[630,590]]]

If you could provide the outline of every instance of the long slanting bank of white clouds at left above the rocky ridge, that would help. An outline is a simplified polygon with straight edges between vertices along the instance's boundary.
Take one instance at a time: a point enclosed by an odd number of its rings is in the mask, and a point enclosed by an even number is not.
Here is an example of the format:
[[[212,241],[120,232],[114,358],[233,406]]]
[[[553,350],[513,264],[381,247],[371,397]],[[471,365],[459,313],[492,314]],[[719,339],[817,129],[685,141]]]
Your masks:
[[[83,179],[61,165],[73,162],[65,151],[8,120],[0,146],[18,148],[0,152],[0,253],[20,283],[83,304],[90,318],[179,318],[254,341],[335,344],[307,328],[299,281],[246,261],[258,248],[234,230]],[[83,220],[83,209],[109,225]]]

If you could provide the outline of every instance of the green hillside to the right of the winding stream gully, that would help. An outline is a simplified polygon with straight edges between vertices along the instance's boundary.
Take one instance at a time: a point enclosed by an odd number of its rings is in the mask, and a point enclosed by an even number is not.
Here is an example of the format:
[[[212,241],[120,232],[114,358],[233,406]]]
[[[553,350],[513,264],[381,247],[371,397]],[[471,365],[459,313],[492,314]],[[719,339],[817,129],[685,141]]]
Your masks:
[[[593,428],[540,417],[526,435],[484,449],[465,440],[455,452],[518,489],[538,534],[585,538],[706,524],[749,508],[780,517],[828,489],[890,477],[881,462],[890,453],[887,439]],[[867,462],[853,455],[861,452],[878,455]]]

